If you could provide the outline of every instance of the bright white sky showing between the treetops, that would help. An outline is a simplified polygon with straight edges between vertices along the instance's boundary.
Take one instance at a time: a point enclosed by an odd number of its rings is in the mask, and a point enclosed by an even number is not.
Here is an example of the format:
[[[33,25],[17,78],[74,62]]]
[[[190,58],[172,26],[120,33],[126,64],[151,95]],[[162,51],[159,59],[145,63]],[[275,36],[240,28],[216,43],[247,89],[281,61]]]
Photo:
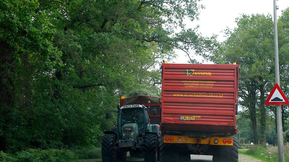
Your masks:
[[[271,14],[273,16],[273,0],[202,0],[200,2],[205,9],[200,10],[199,20],[194,22],[186,21],[187,28],[194,28],[199,25],[199,33],[203,36],[211,37],[212,34],[218,35],[217,40],[225,40],[222,31],[229,27],[237,27],[235,22],[241,14]],[[278,0],[277,16],[280,16],[282,10],[289,7],[289,0]],[[181,50],[175,50],[178,57],[174,60],[168,60],[169,63],[186,64],[189,58]],[[194,56],[193,51],[190,51]],[[195,57],[202,62],[202,57]],[[210,63],[210,62],[204,62]]]

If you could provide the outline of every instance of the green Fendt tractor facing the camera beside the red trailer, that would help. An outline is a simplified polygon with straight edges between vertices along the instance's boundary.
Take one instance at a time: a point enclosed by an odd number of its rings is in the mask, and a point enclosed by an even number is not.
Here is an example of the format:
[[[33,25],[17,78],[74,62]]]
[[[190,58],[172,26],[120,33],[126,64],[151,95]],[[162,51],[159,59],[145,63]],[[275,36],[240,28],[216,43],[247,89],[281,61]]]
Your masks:
[[[149,101],[150,103],[150,101]],[[126,152],[131,156],[143,155],[145,162],[156,162],[160,153],[160,126],[150,124],[144,105],[118,105],[117,124],[111,131],[105,131],[102,138],[101,155],[103,162],[126,161]],[[106,114],[109,118],[109,114]]]

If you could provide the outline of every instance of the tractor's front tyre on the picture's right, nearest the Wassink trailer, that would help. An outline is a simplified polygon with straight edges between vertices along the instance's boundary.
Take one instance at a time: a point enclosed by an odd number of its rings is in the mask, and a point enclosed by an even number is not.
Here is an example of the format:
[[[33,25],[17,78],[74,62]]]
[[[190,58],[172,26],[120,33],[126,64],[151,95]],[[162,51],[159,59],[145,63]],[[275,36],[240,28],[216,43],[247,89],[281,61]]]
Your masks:
[[[158,156],[157,135],[144,135],[145,162],[156,162]]]

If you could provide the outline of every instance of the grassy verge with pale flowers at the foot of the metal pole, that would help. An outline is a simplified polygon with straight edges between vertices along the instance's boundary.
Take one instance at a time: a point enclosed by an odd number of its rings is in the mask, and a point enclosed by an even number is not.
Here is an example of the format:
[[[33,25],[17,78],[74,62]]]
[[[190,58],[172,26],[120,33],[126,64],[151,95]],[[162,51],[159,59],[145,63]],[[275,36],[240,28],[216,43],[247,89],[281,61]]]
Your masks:
[[[266,148],[265,146],[257,145],[247,151],[239,150],[239,153],[252,156],[262,161],[279,162],[277,146]],[[284,145],[284,156],[285,161],[289,161],[289,143]]]

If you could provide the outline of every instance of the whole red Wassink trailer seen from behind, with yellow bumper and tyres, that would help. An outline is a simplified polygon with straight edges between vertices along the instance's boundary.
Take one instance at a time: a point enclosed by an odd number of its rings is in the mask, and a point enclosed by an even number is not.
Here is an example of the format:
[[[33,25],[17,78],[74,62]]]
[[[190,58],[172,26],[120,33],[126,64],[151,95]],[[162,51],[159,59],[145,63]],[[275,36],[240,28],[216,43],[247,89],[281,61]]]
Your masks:
[[[238,161],[239,66],[163,64],[160,161]]]

